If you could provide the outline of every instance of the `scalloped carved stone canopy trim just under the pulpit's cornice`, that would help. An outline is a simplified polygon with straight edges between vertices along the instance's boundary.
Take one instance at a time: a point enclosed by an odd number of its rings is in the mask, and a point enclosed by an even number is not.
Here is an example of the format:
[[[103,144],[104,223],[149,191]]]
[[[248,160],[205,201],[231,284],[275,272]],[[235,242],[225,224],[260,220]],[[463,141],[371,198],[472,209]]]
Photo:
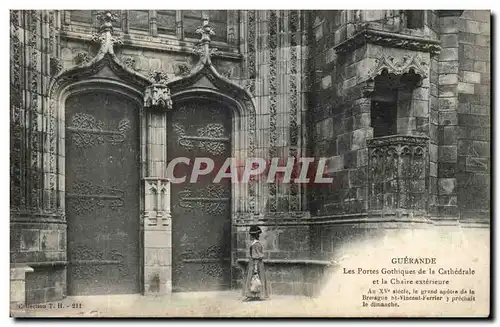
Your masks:
[[[376,62],[377,66],[368,73],[370,78],[375,78],[383,72],[397,76],[414,73],[420,75],[422,78],[427,77],[427,63],[418,55],[405,55],[400,59],[396,59],[393,56],[384,54],[382,58],[376,59]]]

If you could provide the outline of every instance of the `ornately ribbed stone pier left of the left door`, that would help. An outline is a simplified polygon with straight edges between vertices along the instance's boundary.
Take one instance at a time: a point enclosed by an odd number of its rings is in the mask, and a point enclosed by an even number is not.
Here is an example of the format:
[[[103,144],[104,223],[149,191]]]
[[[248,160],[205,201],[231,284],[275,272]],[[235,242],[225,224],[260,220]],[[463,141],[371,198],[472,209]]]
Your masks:
[[[58,265],[66,260],[66,230],[51,137],[57,122],[49,101],[51,76],[61,69],[58,15],[10,12],[10,262],[34,269],[26,274],[28,303],[60,299],[65,284]]]

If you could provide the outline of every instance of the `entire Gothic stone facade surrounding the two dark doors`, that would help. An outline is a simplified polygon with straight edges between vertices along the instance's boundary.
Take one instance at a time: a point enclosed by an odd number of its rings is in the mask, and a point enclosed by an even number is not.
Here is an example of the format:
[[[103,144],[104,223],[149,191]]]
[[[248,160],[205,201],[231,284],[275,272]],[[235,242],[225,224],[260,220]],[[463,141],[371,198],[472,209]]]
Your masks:
[[[232,186],[234,288],[252,224],[273,292],[308,295],[339,244],[415,223],[489,227],[489,11],[113,14],[103,29],[90,11],[11,11],[11,263],[33,269],[27,302],[67,294],[63,96],[78,83],[144,103],[143,294],[172,288],[166,112],[186,94],[239,108],[233,156],[326,157],[333,178]]]

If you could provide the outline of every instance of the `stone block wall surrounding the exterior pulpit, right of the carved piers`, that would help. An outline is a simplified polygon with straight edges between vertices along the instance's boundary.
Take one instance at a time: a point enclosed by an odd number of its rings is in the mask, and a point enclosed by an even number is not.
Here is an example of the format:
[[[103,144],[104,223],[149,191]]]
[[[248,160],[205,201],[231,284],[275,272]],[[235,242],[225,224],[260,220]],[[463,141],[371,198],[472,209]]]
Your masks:
[[[367,182],[374,167],[366,140],[374,137],[370,106],[379,77],[375,87],[363,83],[367,72],[378,69],[385,58],[401,67],[407,58],[418,58],[423,78],[411,89],[398,92],[396,133],[428,138],[423,147],[425,181],[411,178],[415,184],[410,186],[415,192],[411,208],[419,210],[407,210],[399,201],[395,218],[404,214],[408,219],[432,218],[440,223],[450,219],[456,223],[458,218],[487,221],[489,12],[425,11],[422,27],[411,29],[405,15],[398,11],[311,12],[310,151],[315,157],[329,158],[328,173],[334,180],[329,188],[309,189],[313,224],[321,224],[310,229],[313,258],[341,257],[336,249],[349,243],[351,234],[358,239],[370,235],[371,222],[381,229],[389,226],[384,214],[379,216],[368,203]],[[396,38],[420,45],[384,44],[383,33],[358,37],[365,29],[395,33]],[[353,42],[356,38],[360,41]]]

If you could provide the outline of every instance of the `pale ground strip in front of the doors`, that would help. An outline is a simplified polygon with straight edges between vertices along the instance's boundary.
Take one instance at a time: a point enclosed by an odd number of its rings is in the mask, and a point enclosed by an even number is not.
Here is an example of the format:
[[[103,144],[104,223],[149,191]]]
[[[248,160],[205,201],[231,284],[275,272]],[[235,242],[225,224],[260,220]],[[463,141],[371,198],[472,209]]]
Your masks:
[[[52,306],[50,306],[52,305]],[[11,310],[14,317],[284,317],[322,316],[315,299],[273,296],[244,302],[239,292],[86,296],[45,304],[45,308]],[[324,312],[324,311],[323,311]]]

